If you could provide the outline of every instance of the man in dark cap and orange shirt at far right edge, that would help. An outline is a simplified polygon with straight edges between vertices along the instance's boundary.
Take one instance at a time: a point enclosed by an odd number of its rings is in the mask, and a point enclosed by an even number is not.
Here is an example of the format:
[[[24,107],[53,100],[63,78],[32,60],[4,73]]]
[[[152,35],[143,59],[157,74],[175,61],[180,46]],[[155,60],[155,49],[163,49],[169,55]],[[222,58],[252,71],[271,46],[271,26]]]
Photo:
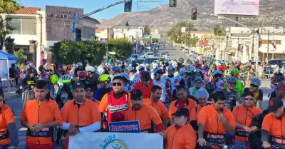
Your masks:
[[[285,109],[281,98],[271,98],[268,110],[271,113],[262,122],[262,146],[270,148],[271,145],[285,145]]]

